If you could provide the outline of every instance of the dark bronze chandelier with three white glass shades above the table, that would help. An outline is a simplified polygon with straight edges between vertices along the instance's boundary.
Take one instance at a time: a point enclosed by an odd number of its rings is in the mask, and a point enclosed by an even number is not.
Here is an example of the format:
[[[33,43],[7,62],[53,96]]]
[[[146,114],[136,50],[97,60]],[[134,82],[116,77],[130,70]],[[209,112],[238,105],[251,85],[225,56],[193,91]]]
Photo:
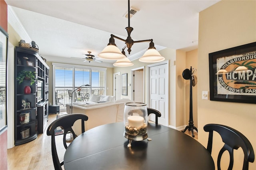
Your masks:
[[[131,47],[134,43],[150,42],[147,51],[144,53],[144,55],[142,55],[142,57],[140,57],[139,61],[147,62],[147,63],[155,63],[155,62],[164,61],[164,57],[162,57],[160,55],[160,53],[154,47],[154,42],[152,39],[139,40],[139,41],[132,40],[132,38],[130,36],[130,34],[133,30],[133,28],[130,27],[130,0],[128,0],[128,27],[126,27],[125,29],[128,33],[127,39],[124,40],[122,38],[119,38],[119,37],[111,34],[108,45],[102,50],[101,53],[98,54],[98,57],[100,57],[102,59],[118,60],[118,61],[116,61],[116,63],[114,63],[115,66],[119,66],[119,67],[131,66],[130,60],[126,57],[125,54],[123,54],[120,51],[120,49],[118,49],[118,47],[116,47],[115,40],[114,40],[114,38],[116,38],[118,40],[125,42],[125,44],[128,48],[127,51],[129,54],[132,51]],[[123,51],[124,51],[124,48],[123,48]],[[120,65],[122,65],[122,66],[120,66]]]

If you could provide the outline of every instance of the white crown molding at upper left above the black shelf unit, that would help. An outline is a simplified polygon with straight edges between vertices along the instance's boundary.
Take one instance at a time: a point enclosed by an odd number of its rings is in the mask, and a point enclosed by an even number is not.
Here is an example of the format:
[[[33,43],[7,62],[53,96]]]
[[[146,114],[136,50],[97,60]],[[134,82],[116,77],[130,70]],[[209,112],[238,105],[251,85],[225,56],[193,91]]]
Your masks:
[[[31,38],[26,32],[24,26],[21,24],[18,16],[15,14],[14,10],[11,6],[8,5],[8,23],[12,26],[12,28],[17,32],[22,40],[26,42],[31,42]]]

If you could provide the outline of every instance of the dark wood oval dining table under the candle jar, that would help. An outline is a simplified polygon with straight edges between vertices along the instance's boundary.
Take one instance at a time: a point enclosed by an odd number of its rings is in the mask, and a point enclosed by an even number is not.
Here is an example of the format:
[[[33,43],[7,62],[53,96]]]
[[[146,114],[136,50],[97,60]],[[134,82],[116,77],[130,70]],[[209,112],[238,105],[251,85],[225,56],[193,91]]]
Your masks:
[[[124,123],[111,123],[80,134],[64,155],[65,170],[214,170],[210,153],[194,138],[148,123],[152,140],[124,137]]]

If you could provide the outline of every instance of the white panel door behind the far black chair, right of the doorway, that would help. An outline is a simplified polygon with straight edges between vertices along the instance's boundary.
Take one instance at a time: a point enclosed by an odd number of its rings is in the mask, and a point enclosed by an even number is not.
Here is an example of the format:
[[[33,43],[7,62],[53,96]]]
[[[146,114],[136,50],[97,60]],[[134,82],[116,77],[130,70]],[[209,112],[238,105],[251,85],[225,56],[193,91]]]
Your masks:
[[[158,118],[158,123],[164,126],[168,126],[168,107],[166,99],[168,97],[168,78],[167,78],[167,64],[156,65],[149,68],[150,70],[150,103],[149,106],[152,109],[160,111],[162,116]],[[150,115],[150,120],[155,121],[155,116]]]

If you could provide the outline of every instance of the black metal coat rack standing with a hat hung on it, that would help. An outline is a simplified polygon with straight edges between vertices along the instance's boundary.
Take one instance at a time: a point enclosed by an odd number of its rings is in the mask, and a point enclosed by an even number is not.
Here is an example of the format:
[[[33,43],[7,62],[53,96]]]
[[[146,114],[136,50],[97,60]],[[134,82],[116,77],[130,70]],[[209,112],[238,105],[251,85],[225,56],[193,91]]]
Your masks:
[[[189,69],[185,69],[182,73],[182,76],[184,79],[188,80],[190,79],[190,96],[189,96],[189,123],[188,126],[182,132],[186,132],[186,130],[191,130],[192,132],[192,137],[194,138],[194,129],[196,132],[198,132],[197,128],[194,126],[194,121],[193,121],[193,102],[192,102],[192,80],[193,80],[193,72],[192,72],[192,67]]]

